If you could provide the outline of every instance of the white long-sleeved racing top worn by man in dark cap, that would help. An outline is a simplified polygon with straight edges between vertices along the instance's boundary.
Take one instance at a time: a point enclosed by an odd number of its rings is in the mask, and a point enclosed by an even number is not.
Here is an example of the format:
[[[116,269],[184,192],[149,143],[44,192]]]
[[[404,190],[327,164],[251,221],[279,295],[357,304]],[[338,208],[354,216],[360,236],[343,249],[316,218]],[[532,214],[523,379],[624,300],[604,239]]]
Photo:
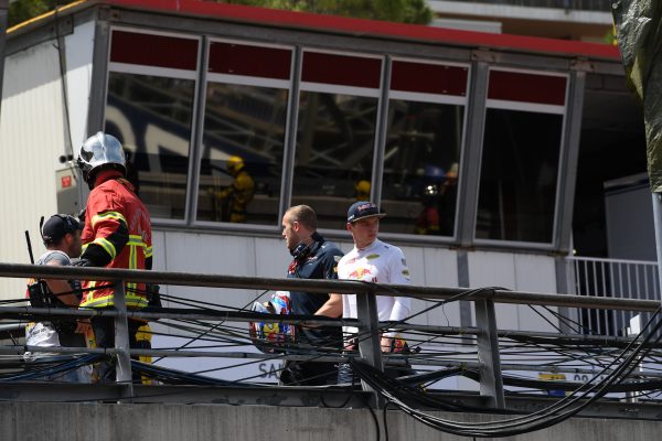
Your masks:
[[[375,239],[364,249],[354,247],[338,262],[338,278],[345,280],[365,280],[375,283],[409,284],[409,269],[405,255],[398,247]],[[407,297],[377,295],[380,321],[398,321],[409,315],[412,299]],[[342,316],[356,319],[356,295],[343,294]],[[357,329],[345,326],[345,333],[356,333]],[[394,336],[395,332],[385,333]]]

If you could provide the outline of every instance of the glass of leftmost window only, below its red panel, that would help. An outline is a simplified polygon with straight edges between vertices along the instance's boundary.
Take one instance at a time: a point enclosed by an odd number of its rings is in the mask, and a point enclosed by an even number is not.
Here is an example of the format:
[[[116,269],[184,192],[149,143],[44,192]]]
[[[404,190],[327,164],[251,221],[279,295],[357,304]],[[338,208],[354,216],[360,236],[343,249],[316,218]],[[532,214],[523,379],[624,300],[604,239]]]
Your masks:
[[[106,131],[128,152],[152,218],[184,218],[194,89],[192,79],[109,73]]]

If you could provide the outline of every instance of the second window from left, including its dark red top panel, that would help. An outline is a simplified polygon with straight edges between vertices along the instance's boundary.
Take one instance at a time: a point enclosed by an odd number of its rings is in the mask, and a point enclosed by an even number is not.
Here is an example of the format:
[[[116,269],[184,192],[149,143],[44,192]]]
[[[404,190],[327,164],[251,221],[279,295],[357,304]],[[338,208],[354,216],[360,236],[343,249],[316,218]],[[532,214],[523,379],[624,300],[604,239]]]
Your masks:
[[[291,56],[210,45],[199,220],[278,224]]]

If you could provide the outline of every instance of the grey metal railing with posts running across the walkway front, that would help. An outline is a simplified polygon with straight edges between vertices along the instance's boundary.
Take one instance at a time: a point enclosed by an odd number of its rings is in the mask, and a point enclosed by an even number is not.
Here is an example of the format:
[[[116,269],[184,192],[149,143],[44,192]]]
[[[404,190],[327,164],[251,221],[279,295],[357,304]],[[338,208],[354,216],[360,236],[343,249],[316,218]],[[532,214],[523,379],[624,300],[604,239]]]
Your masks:
[[[331,280],[300,280],[300,279],[278,279],[278,278],[258,278],[258,277],[237,277],[237,276],[215,276],[184,272],[161,272],[161,271],[137,271],[137,270],[119,270],[119,269],[99,269],[99,268],[77,268],[77,267],[51,267],[51,266],[32,266],[32,265],[10,265],[0,263],[0,277],[10,278],[58,278],[58,279],[79,279],[79,280],[105,280],[115,282],[117,288],[115,311],[96,311],[96,310],[54,310],[54,309],[35,309],[30,306],[0,306],[0,319],[2,318],[20,318],[29,320],[40,316],[53,315],[71,315],[71,316],[94,316],[108,315],[116,318],[116,338],[115,347],[103,349],[76,348],[78,353],[105,353],[114,354],[117,357],[117,381],[118,381],[118,399],[131,400],[136,397],[136,391],[131,384],[131,355],[154,355],[154,356],[218,356],[218,357],[244,357],[244,358],[269,358],[268,354],[246,354],[246,353],[211,353],[191,349],[134,349],[129,348],[129,336],[127,319],[178,319],[185,318],[186,320],[200,320],[203,322],[225,322],[225,321],[255,321],[258,318],[265,318],[260,314],[250,314],[245,312],[220,311],[215,309],[202,310],[172,310],[162,309],[154,311],[127,311],[126,305],[121,301],[124,283],[131,282],[158,282],[161,286],[172,287],[207,287],[207,288],[233,288],[233,289],[256,289],[256,290],[296,290],[305,292],[339,292],[339,293],[356,293],[359,318],[357,320],[350,319],[322,319],[314,316],[290,316],[278,318],[277,320],[287,323],[300,323],[308,325],[349,325],[357,326],[360,335],[359,354],[362,359],[377,369],[383,369],[384,361],[397,365],[398,363],[410,361],[414,365],[429,366],[455,366],[461,369],[474,368],[480,387],[480,395],[484,404],[491,408],[502,409],[505,406],[504,399],[504,380],[502,369],[510,370],[532,370],[537,366],[538,370],[555,372],[575,372],[575,373],[591,373],[595,369],[589,365],[562,365],[556,362],[547,364],[532,365],[524,355],[519,354],[516,348],[508,351],[506,363],[502,363],[502,349],[500,348],[500,338],[510,338],[511,342],[522,341],[522,338],[534,338],[532,346],[536,351],[544,351],[542,341],[549,342],[555,335],[552,333],[523,333],[517,331],[504,331],[496,327],[496,314],[494,303],[510,304],[527,304],[527,305],[545,305],[545,306],[574,306],[587,308],[596,310],[615,310],[615,311],[640,311],[654,312],[658,311],[660,302],[656,300],[638,300],[638,299],[618,299],[610,297],[588,297],[588,295],[565,295],[565,294],[548,294],[536,292],[508,291],[500,289],[481,289],[467,291],[459,288],[429,288],[429,287],[413,287],[413,286],[383,286],[376,283],[364,283],[360,281],[331,281]],[[448,300],[466,300],[474,304],[477,326],[469,329],[455,329],[451,326],[428,326],[417,325],[412,323],[380,323],[377,322],[375,295],[407,295],[416,299],[426,299],[427,301],[448,301]],[[273,318],[271,318],[273,319]],[[265,319],[263,319],[265,320]],[[268,319],[267,319],[268,320]],[[276,319],[274,319],[276,320]],[[210,324],[210,327],[213,327]],[[426,331],[430,335],[437,335],[434,338],[442,335],[459,335],[461,338],[470,338],[476,345],[476,353],[472,351],[452,352],[451,355],[445,356],[441,353],[427,354],[425,357],[397,354],[382,354],[380,349],[380,333],[381,330],[399,329],[408,332]],[[564,341],[581,341],[585,344],[597,344],[591,337],[581,335],[558,335]],[[433,338],[433,340],[434,340]],[[609,340],[599,338],[600,344],[612,343],[616,346],[627,343],[627,340]],[[465,343],[466,345],[466,343]],[[40,348],[28,347],[28,349]],[[3,346],[0,347],[0,353],[3,354],[21,354],[25,351],[24,346]],[[71,353],[72,348],[41,348],[41,351],[54,353]],[[565,351],[565,349],[564,349]],[[604,355],[598,355],[601,357]],[[271,356],[273,357],[273,356]],[[337,354],[287,354],[285,359],[310,359],[310,361],[332,361],[346,362],[351,356],[344,353]],[[576,358],[576,357],[575,357]],[[573,359],[575,359],[573,358]],[[597,365],[600,365],[599,363]],[[601,366],[601,365],[600,365]],[[652,376],[655,376],[653,373]],[[107,386],[106,386],[107,387]],[[366,384],[364,390],[374,392]],[[378,395],[373,394],[376,402]]]

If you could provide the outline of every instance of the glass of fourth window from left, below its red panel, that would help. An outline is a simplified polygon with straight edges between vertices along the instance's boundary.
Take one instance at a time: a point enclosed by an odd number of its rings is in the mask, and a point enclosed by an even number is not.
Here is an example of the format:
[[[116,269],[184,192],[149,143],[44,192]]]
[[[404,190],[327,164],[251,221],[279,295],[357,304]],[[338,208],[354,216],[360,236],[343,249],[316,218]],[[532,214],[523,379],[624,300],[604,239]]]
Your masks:
[[[391,100],[381,230],[452,236],[465,107]]]

